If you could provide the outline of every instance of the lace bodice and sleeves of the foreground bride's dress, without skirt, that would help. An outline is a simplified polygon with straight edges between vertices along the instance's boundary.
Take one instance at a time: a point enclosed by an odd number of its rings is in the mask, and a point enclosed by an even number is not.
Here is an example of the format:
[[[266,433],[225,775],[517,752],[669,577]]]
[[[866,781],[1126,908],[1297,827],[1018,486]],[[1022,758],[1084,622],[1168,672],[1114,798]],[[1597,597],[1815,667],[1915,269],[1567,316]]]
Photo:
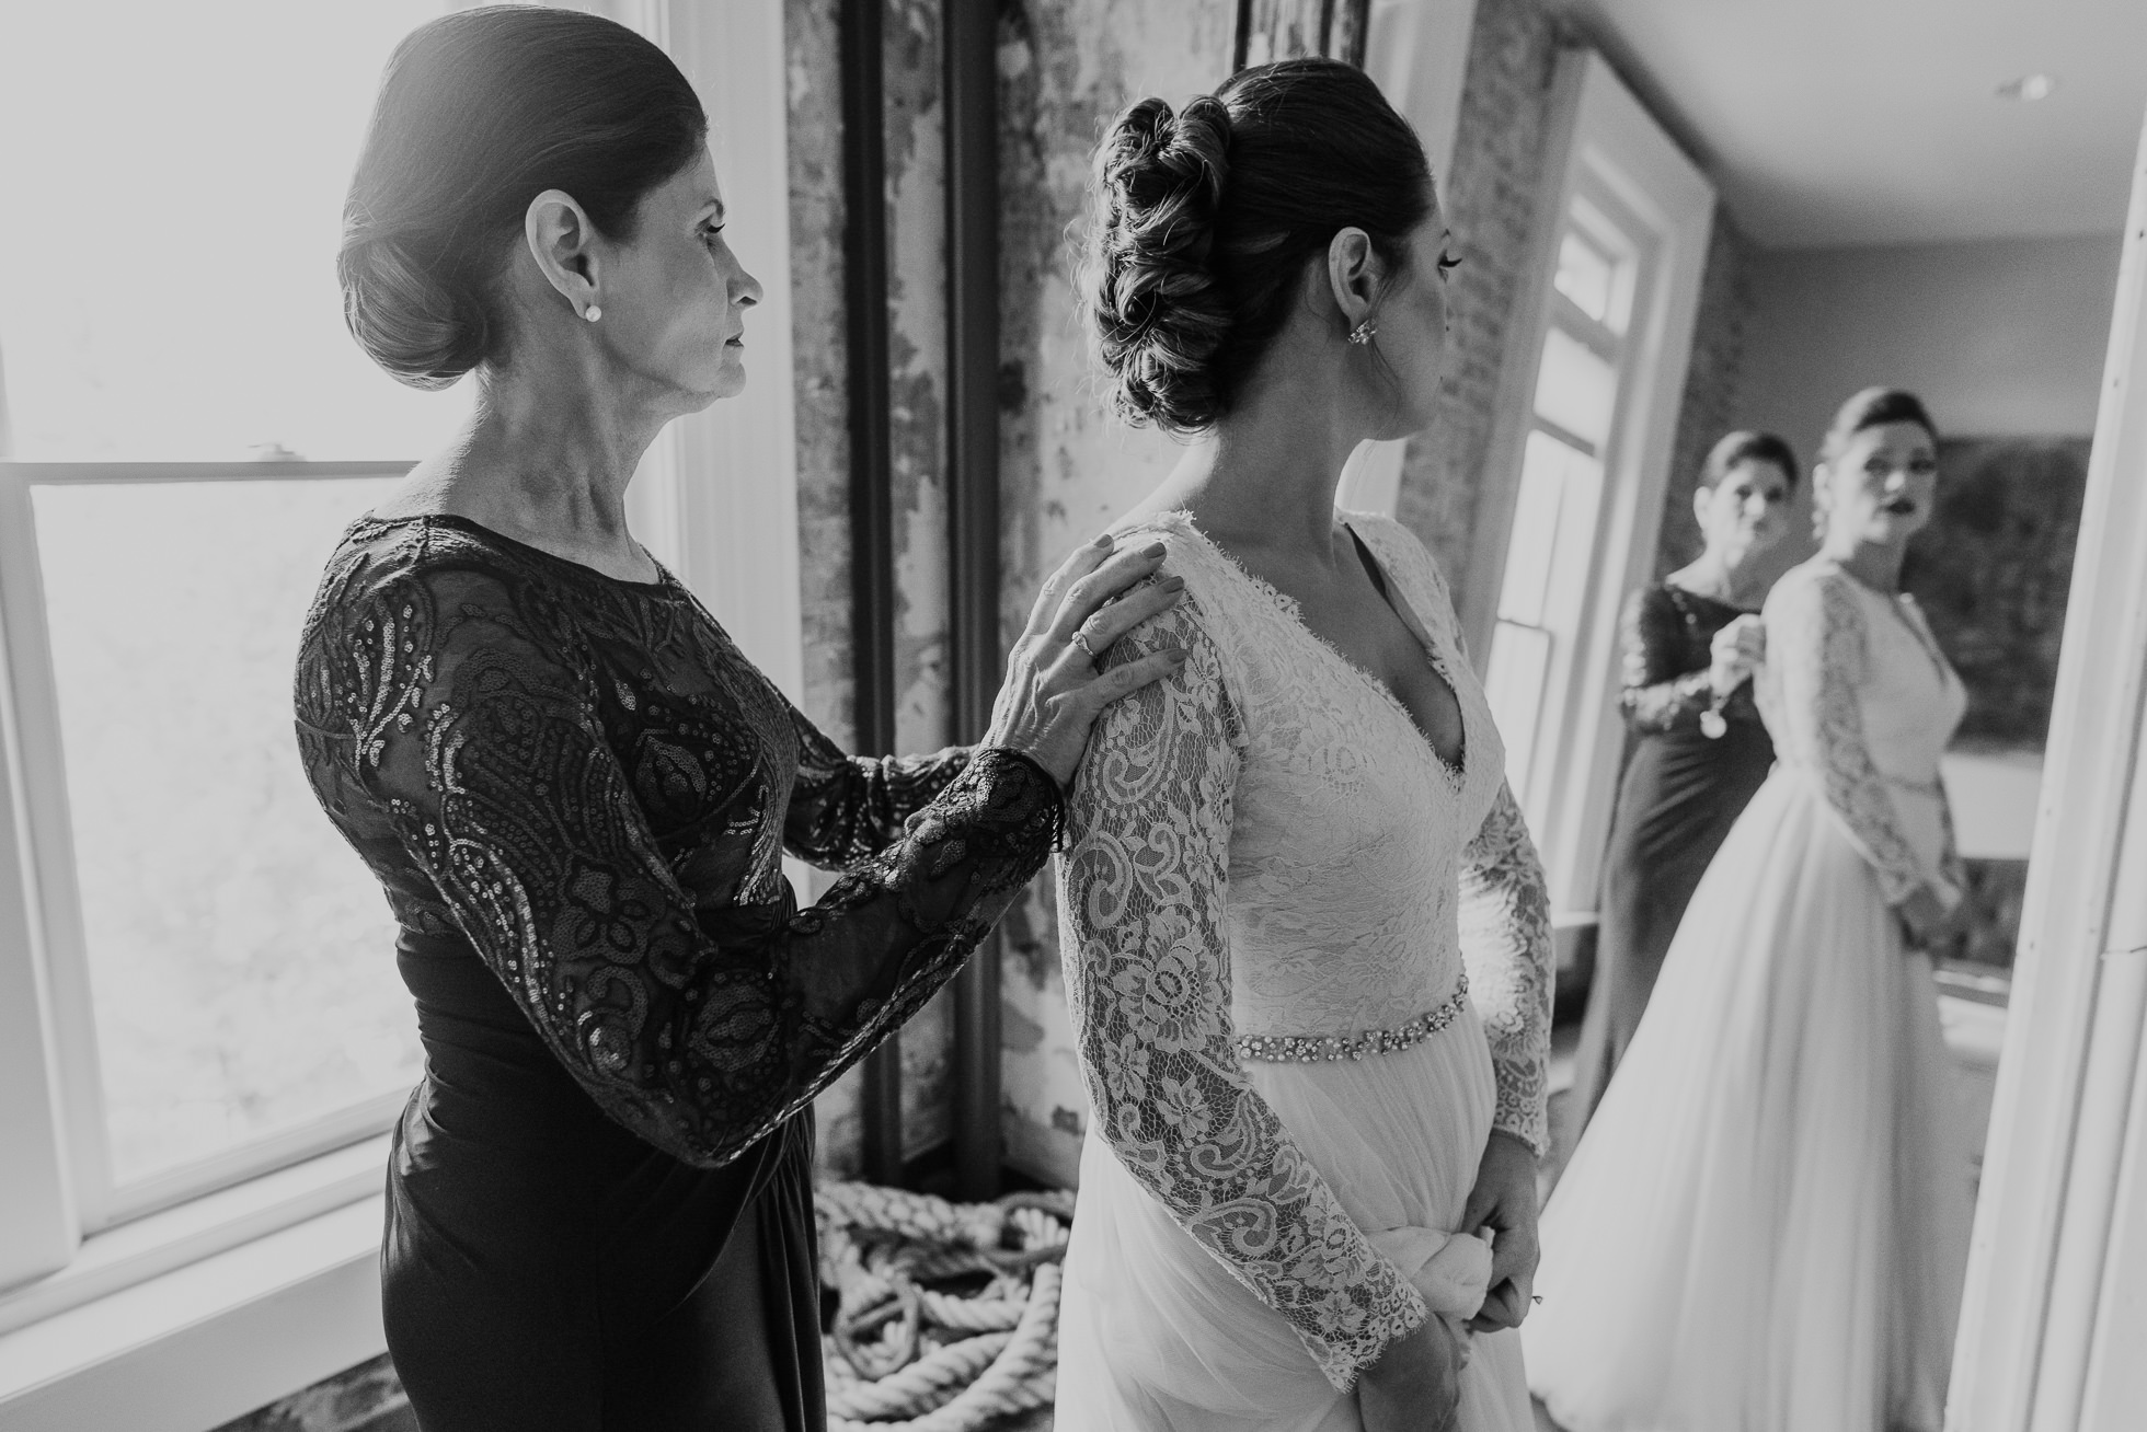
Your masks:
[[[1391,693],[1312,638],[1288,599],[1168,515],[1151,530],[1187,599],[1108,659],[1168,644],[1192,655],[1106,711],[1076,779],[1058,876],[1099,1138],[1342,1389],[1423,1320],[1423,1301],[1250,1086],[1241,1033],[1402,1026],[1449,1000],[1466,968],[1471,988],[1492,992],[1499,1123],[1542,1146],[1550,1026],[1542,872],[1501,799],[1503,749],[1454,642],[1445,588],[1404,528],[1350,526],[1385,567],[1398,612],[1421,618],[1428,659],[1451,672],[1462,769],[1438,760]],[[1503,816],[1488,824],[1494,807]],[[1464,904],[1471,932],[1488,936],[1466,966]],[[1499,958],[1527,968],[1492,968]]]

